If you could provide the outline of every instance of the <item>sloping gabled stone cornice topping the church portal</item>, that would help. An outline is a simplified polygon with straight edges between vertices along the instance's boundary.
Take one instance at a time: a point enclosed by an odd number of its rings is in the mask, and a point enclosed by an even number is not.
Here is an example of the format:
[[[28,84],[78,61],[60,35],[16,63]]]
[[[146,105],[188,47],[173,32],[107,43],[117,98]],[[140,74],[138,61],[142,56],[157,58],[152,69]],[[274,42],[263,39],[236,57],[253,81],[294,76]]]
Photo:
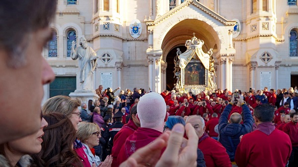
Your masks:
[[[234,26],[236,24],[235,21],[229,21],[229,20],[225,19],[223,16],[217,14],[216,12],[212,11],[211,9],[209,9],[208,7],[204,6],[203,4],[201,4],[200,2],[198,2],[196,0],[186,0],[183,3],[181,3],[179,6],[173,8],[169,12],[165,13],[163,16],[157,18],[155,21],[145,20],[146,25],[148,25],[148,26],[156,25],[156,24],[162,22],[163,20],[165,20],[166,18],[170,17],[174,13],[178,12],[179,10],[187,7],[190,4],[193,4],[194,6],[198,7],[200,10],[209,14],[211,17],[217,19],[218,21],[220,21],[221,23],[223,23],[226,26],[230,26],[230,25]]]

